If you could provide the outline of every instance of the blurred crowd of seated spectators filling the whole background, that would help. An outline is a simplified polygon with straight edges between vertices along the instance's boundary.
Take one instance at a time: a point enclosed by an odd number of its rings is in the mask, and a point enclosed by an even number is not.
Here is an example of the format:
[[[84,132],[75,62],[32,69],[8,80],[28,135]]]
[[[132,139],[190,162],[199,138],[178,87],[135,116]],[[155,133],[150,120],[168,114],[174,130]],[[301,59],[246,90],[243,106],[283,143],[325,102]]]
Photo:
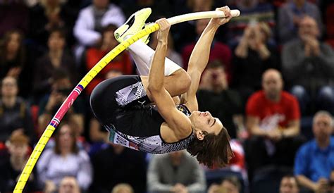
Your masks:
[[[218,30],[197,99],[228,129],[228,167],[205,168],[186,151],[151,155],[108,143],[89,95],[103,80],[137,74],[123,51],[66,113],[25,192],[334,192],[330,0],[0,0],[0,192],[13,191],[51,118],[118,45],[113,32],[132,13],[151,7],[154,22],[225,5],[241,15]],[[187,69],[208,22],[173,25],[168,58]]]

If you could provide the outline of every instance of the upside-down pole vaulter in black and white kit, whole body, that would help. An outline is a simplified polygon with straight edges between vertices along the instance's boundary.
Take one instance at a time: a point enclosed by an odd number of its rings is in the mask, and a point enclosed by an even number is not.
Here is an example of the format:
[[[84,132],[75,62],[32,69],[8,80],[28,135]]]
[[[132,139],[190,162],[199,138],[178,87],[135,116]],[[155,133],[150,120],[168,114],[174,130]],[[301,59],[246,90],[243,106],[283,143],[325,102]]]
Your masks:
[[[90,104],[99,122],[109,130],[109,141],[151,154],[187,149],[206,166],[225,166],[233,152],[221,120],[199,112],[196,92],[209,61],[210,46],[219,26],[228,23],[230,8],[216,8],[227,18],[211,18],[199,38],[187,72],[166,58],[170,23],[156,23],[158,45],[152,50],[141,39],[130,48],[141,75],[123,75],[101,82],[92,92]],[[118,42],[145,27],[151,13],[144,8],[115,31]],[[147,77],[148,75],[148,77]],[[175,106],[173,97],[180,97]]]

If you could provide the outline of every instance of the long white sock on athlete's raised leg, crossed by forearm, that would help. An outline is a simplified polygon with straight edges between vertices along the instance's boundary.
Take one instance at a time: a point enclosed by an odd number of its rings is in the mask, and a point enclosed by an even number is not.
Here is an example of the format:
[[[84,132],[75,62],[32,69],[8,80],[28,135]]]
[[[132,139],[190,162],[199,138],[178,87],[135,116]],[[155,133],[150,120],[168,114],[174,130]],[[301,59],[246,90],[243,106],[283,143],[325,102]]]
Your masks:
[[[154,50],[140,40],[131,44],[129,49],[140,75],[149,75],[149,68],[151,67]],[[181,67],[170,59],[165,59],[165,76],[173,74],[178,69],[181,69]]]

